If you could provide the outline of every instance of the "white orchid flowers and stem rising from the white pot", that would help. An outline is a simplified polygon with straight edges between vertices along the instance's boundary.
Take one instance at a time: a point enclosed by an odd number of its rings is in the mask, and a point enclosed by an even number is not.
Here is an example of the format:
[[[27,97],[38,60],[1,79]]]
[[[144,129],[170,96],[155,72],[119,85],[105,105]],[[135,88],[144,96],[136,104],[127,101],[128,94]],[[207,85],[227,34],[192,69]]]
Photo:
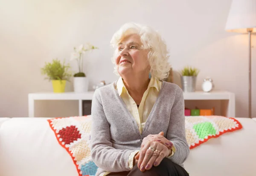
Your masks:
[[[74,47],[74,52],[71,54],[71,59],[70,60],[76,60],[78,63],[78,73],[74,74],[74,77],[86,77],[83,69],[83,58],[84,58],[84,53],[86,51],[92,51],[94,49],[99,49],[96,46],[91,45],[90,43],[87,43],[87,46],[84,46],[81,44],[78,48]]]

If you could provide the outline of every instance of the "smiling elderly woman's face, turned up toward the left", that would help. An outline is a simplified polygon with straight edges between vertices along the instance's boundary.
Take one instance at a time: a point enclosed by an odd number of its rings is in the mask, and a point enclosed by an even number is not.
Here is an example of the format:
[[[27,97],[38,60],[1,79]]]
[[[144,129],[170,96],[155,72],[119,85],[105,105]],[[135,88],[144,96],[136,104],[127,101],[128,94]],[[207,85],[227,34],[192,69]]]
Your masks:
[[[148,52],[141,45],[140,36],[137,34],[128,35],[118,44],[115,62],[121,76],[145,74],[149,71]]]

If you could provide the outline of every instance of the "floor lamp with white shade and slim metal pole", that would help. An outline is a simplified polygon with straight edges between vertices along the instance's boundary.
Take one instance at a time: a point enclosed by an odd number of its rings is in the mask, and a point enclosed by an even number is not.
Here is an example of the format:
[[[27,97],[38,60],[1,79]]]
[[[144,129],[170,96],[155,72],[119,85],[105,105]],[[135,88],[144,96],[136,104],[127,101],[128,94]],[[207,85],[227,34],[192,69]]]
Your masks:
[[[249,118],[252,118],[251,34],[256,32],[256,0],[233,0],[227,17],[226,31],[247,33],[249,37]]]

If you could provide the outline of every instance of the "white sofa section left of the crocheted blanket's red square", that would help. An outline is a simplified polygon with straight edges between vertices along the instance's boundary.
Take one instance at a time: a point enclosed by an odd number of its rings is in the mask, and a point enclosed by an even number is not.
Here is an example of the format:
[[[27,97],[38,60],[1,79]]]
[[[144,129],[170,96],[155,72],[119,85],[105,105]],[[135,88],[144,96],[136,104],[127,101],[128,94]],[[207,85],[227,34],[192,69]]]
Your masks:
[[[0,176],[76,176],[47,119],[17,117],[0,128]]]

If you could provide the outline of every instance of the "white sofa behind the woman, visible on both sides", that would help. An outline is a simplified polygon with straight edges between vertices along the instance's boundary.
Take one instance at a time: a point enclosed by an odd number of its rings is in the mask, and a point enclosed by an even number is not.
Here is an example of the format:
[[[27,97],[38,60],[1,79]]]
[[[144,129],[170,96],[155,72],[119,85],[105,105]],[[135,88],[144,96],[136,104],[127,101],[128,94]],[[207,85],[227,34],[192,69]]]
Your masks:
[[[49,118],[0,118],[0,176],[78,176]],[[237,118],[243,129],[190,150],[190,176],[255,176],[256,119]]]

